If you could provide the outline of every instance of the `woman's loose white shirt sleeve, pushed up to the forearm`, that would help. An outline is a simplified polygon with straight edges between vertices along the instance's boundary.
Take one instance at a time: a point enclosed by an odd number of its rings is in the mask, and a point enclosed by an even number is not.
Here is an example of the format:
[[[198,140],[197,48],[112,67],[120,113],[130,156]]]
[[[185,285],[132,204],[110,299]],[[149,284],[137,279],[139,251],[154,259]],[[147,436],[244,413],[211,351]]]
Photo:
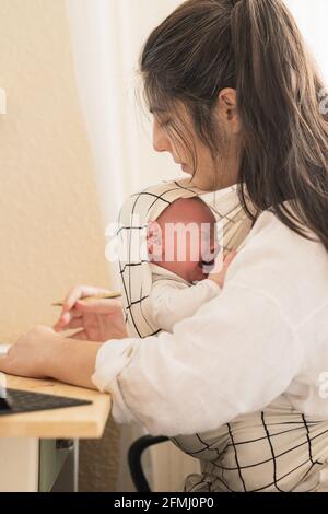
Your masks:
[[[187,435],[268,406],[288,389],[302,355],[279,304],[231,281],[173,334],[105,343],[93,382],[112,394],[117,422]]]

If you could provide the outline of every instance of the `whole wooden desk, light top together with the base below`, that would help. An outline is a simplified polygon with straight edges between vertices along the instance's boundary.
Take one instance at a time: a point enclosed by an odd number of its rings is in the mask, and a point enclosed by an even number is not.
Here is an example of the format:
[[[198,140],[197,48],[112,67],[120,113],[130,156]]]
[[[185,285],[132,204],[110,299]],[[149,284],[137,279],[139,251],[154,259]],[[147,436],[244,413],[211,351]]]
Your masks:
[[[102,437],[110,412],[110,396],[52,381],[14,376],[7,376],[5,385],[93,404],[0,416],[0,492],[44,492],[52,488],[75,491],[78,440]],[[74,444],[70,449],[58,449],[58,440],[74,440]]]

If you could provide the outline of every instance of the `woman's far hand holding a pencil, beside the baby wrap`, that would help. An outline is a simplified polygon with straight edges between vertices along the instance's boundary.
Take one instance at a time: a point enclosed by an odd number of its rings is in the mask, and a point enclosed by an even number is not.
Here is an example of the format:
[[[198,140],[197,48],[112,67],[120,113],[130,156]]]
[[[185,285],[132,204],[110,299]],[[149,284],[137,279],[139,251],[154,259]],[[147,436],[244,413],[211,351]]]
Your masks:
[[[105,342],[109,339],[128,337],[120,300],[93,300],[83,302],[86,296],[109,291],[80,285],[67,295],[55,330],[79,329],[70,339]]]

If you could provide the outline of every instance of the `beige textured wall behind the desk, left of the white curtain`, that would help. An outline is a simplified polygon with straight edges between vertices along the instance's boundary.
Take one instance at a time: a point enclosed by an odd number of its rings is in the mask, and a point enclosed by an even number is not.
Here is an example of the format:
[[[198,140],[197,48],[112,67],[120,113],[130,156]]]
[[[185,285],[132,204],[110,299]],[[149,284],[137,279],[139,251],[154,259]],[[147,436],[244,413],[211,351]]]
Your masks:
[[[63,0],[0,0],[0,341],[13,342],[51,325],[72,285],[110,279]],[[95,489],[115,487],[117,434],[81,445]]]

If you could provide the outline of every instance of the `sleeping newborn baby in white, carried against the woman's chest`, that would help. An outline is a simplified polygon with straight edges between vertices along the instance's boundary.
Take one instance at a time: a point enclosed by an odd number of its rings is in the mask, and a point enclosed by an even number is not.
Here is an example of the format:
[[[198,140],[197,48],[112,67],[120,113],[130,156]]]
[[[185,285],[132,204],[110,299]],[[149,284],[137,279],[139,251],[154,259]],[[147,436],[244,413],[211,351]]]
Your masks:
[[[176,200],[149,224],[148,252],[153,277],[151,315],[168,332],[221,292],[236,255],[229,254],[218,272],[216,221],[198,197]]]

